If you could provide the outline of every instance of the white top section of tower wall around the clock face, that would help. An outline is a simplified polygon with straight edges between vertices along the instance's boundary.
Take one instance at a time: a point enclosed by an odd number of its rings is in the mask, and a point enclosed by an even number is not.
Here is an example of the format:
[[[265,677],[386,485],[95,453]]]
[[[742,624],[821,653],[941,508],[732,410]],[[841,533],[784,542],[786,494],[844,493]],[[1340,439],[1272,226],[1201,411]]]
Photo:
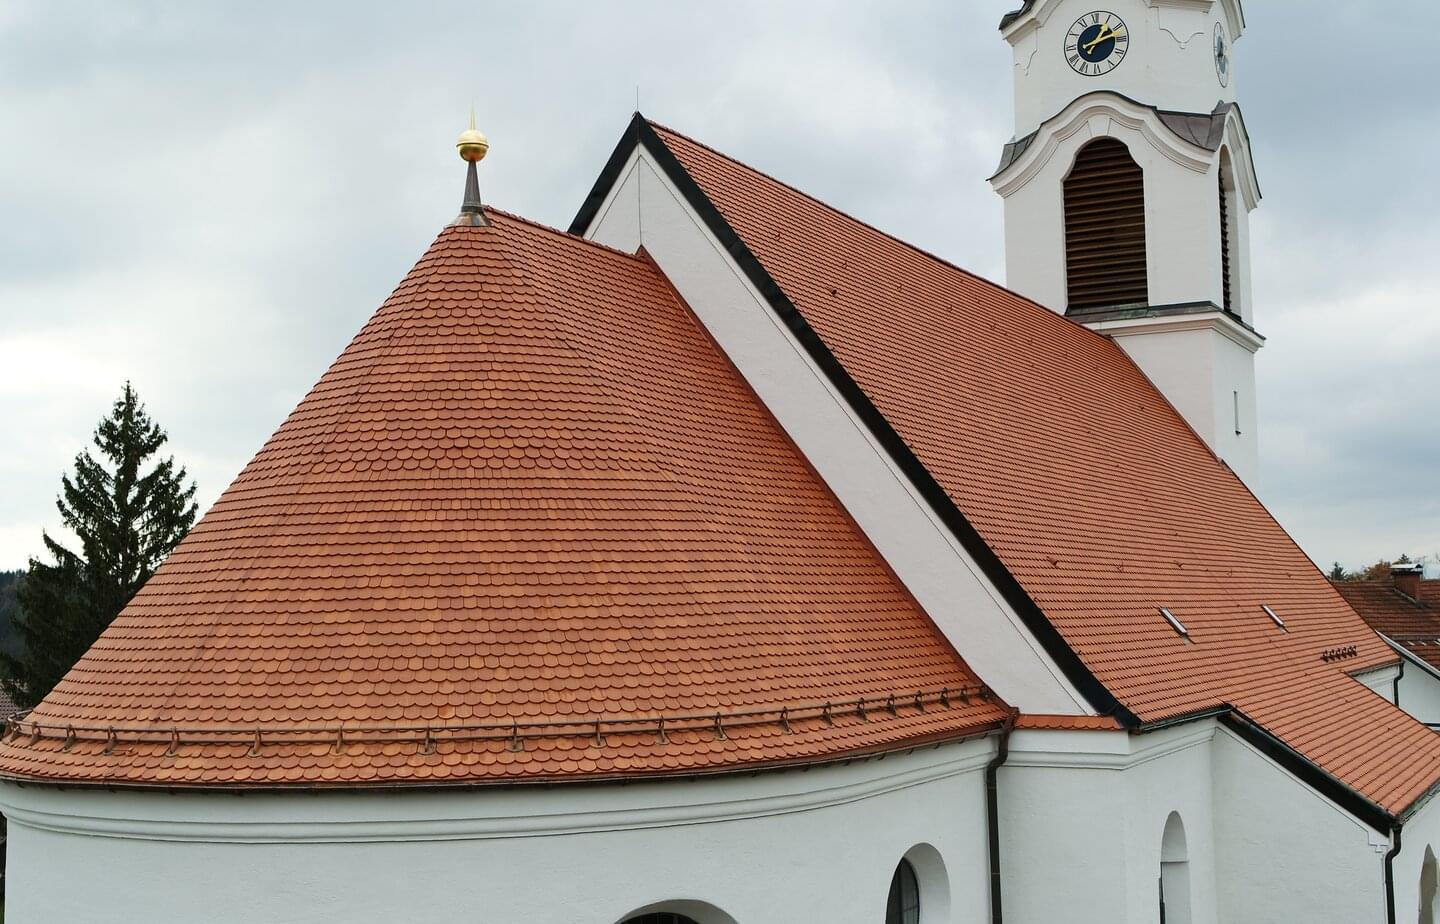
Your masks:
[[[1071,23],[1093,10],[1109,10],[1129,26],[1130,45],[1119,68],[1103,78],[1076,73],[1064,55]],[[1231,53],[1230,85],[1215,73],[1214,26],[1240,32],[1231,0],[1040,0],[1035,12],[1007,30],[1014,47],[1015,134],[1025,135],[1067,102],[1104,88],[1139,102],[1184,112],[1210,112],[1236,98],[1238,55]]]

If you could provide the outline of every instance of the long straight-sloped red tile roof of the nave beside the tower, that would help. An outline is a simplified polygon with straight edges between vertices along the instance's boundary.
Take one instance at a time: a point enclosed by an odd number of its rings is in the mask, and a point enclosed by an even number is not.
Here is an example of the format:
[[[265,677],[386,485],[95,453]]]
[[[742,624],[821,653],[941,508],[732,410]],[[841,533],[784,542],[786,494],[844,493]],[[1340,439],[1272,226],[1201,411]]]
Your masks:
[[[1349,676],[1395,653],[1113,341],[642,128],[1122,712],[1233,707],[1387,810],[1428,792],[1440,735]]]

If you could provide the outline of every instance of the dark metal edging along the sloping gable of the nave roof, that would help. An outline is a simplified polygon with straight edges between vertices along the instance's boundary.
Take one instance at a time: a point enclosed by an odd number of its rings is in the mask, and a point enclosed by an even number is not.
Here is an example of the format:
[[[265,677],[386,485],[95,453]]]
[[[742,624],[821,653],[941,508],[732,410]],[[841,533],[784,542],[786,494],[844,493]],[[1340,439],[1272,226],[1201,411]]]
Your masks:
[[[685,201],[696,210],[701,220],[704,220],[710,233],[714,235],[716,240],[730,255],[730,259],[744,272],[750,284],[765,296],[770,309],[786,325],[835,390],[841,393],[851,410],[865,423],[896,466],[904,472],[936,515],[955,534],[976,564],[979,564],[985,577],[1005,597],[1005,602],[1021,617],[1021,622],[1025,623],[1025,628],[1056,662],[1066,679],[1074,685],[1096,712],[1112,715],[1128,728],[1139,727],[1139,717],[1120,704],[1080,659],[1080,655],[1070,648],[1070,643],[1066,642],[1060,630],[1050,622],[1044,610],[1030,597],[1015,576],[1009,573],[1009,569],[999,560],[999,556],[985,543],[985,538],[969,522],[960,508],[956,507],[945,488],[940,486],[924,463],[920,462],[900,433],[886,420],[884,415],[870,400],[870,396],[865,394],[864,389],[851,377],[835,354],[831,353],[825,341],[821,340],[819,334],[815,332],[785,291],[780,289],[780,285],[765,269],[760,259],[750,252],[750,248],[740,239],[740,235],[730,227],[730,223],[720,214],[720,210],[710,201],[710,197],[700,189],[700,184],[696,183],[639,112],[631,119],[609,161],[606,161],[605,170],[590,189],[590,194],[580,206],[575,220],[570,222],[570,233],[583,236],[589,229],[636,144],[644,145],[645,151],[664,170],[667,178],[680,190],[681,196],[684,196]]]

